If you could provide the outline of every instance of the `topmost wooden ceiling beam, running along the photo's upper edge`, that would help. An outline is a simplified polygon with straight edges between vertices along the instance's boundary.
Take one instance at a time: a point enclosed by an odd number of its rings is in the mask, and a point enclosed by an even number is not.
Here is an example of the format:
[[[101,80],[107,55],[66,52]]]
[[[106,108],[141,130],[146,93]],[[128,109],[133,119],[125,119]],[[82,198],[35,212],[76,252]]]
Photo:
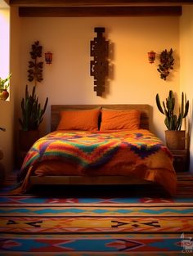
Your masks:
[[[134,5],[182,5],[190,1],[164,0],[10,0],[10,6],[17,7],[92,7],[92,6],[134,6]]]

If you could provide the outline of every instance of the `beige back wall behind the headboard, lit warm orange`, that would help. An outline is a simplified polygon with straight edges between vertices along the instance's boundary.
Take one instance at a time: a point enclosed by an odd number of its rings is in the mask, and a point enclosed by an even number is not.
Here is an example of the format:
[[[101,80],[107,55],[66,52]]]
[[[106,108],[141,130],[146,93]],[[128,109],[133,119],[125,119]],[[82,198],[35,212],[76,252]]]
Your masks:
[[[103,97],[93,92],[89,74],[90,41],[94,27],[105,27],[110,40],[112,72]],[[44,65],[43,83],[38,84],[42,101],[49,97],[42,125],[49,131],[51,104],[146,103],[153,108],[151,130],[164,139],[164,115],[155,107],[155,95],[165,98],[169,89],[179,92],[179,17],[21,18],[20,78],[25,90],[29,51],[39,40],[43,52],[53,52],[52,65]],[[173,47],[175,69],[168,81],[159,78],[147,52]],[[23,93],[22,93],[23,95]]]

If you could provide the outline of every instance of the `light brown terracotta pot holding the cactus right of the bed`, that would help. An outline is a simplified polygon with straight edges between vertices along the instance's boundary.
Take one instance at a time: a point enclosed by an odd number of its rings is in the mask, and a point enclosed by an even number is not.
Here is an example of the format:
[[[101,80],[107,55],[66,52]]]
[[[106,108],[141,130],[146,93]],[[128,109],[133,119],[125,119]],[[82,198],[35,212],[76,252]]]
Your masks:
[[[186,132],[185,131],[165,131],[165,142],[171,150],[186,149]]]

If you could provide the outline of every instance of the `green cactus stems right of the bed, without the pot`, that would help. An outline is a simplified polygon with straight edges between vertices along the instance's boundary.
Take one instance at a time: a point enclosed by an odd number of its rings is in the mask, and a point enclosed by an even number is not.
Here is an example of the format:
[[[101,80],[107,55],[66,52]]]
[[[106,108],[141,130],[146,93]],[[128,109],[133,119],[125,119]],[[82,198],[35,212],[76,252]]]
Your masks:
[[[168,98],[166,98],[166,103],[164,101],[162,102],[163,107],[161,106],[158,93],[155,99],[159,111],[165,115],[164,124],[168,130],[180,131],[182,128],[182,119],[186,117],[189,110],[189,101],[186,100],[184,93],[182,92],[182,101],[181,106],[179,107],[178,115],[174,114],[175,97],[173,96],[172,90],[169,91]]]

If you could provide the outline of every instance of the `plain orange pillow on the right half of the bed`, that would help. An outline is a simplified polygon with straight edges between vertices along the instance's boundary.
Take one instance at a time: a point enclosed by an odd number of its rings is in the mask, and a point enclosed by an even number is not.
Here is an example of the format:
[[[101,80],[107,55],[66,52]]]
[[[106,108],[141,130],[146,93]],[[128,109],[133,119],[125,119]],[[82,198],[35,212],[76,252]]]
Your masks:
[[[140,126],[139,110],[102,110],[100,131],[136,130]]]

